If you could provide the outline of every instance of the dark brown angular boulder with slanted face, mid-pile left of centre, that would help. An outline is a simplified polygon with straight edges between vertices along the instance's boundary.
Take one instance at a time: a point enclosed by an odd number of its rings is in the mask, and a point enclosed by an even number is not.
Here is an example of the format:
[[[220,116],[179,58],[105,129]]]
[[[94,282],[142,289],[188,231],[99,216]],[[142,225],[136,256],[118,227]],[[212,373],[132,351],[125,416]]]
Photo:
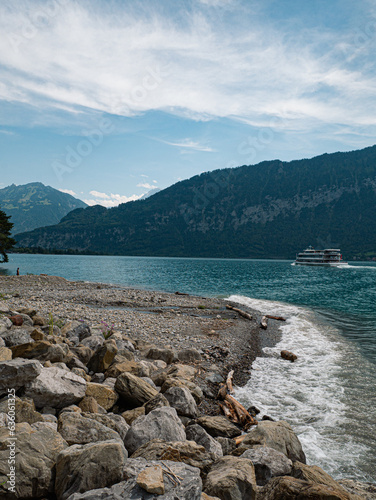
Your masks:
[[[142,406],[144,403],[154,398],[158,391],[142,378],[132,373],[122,373],[116,380],[115,390],[133,408]]]

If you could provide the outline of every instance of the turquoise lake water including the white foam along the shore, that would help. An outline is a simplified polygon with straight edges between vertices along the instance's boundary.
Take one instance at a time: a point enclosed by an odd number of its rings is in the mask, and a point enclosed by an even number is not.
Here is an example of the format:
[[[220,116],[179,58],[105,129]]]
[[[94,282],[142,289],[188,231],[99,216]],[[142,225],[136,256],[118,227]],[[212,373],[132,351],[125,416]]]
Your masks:
[[[286,316],[280,344],[256,360],[239,399],[289,421],[308,462],[336,478],[375,480],[375,263],[326,269],[270,260],[9,257],[0,266],[4,274],[19,267],[21,274],[232,296],[260,313]],[[298,361],[281,361],[282,348],[295,352]]]

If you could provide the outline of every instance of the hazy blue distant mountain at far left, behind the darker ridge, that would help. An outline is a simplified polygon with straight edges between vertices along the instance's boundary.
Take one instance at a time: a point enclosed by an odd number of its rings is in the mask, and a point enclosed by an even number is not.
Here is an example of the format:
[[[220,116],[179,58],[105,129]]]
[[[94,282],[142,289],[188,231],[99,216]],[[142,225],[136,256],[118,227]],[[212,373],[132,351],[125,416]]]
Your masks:
[[[57,224],[71,210],[85,207],[83,201],[41,182],[0,189],[0,208],[11,216],[13,234]]]

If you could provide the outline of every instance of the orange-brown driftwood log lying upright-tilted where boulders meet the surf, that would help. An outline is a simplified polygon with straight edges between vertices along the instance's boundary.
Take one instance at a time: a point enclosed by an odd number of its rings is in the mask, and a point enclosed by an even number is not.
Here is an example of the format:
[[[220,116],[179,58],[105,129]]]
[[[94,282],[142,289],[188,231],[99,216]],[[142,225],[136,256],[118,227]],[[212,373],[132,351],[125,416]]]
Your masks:
[[[257,420],[249,414],[239,401],[231,396],[231,393],[234,392],[232,384],[233,376],[234,370],[231,370],[227,375],[226,383],[222,384],[218,391],[217,399],[221,401],[219,406],[223,414],[231,422],[241,425],[244,430],[248,430],[251,425],[257,425]]]

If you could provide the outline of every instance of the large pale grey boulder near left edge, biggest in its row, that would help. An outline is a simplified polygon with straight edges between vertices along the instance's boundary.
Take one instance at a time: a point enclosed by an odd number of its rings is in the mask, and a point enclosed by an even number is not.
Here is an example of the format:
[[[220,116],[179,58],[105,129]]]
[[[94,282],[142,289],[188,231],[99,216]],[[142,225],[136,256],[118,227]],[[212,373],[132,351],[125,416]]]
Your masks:
[[[64,408],[78,403],[85,396],[85,392],[85,379],[70,371],[51,366],[43,368],[38,377],[27,384],[25,396],[32,398],[37,408]]]

